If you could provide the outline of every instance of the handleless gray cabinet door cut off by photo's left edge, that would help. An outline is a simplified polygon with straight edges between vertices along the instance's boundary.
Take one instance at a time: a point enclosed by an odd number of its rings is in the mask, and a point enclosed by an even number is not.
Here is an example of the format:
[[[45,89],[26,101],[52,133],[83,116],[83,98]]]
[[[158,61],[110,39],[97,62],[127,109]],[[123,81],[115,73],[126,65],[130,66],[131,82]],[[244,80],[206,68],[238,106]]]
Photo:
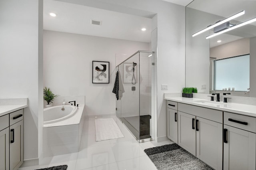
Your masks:
[[[9,128],[0,131],[0,170],[9,170]]]

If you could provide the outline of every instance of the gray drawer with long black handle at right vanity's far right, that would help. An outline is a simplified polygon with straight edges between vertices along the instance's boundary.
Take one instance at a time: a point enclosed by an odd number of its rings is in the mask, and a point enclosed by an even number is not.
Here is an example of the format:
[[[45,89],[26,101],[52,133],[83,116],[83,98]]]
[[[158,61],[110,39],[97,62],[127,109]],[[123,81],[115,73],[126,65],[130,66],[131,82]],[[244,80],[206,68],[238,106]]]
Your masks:
[[[235,113],[224,112],[224,124],[232,127],[256,132],[256,118]],[[246,125],[247,124],[247,125]]]

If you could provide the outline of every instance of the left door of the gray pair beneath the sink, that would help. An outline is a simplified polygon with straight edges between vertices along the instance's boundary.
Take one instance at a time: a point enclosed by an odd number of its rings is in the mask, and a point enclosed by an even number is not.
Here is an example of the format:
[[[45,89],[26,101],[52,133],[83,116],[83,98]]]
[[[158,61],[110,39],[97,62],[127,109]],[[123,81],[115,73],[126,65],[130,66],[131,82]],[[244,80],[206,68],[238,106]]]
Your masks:
[[[196,117],[178,111],[178,144],[196,156]]]

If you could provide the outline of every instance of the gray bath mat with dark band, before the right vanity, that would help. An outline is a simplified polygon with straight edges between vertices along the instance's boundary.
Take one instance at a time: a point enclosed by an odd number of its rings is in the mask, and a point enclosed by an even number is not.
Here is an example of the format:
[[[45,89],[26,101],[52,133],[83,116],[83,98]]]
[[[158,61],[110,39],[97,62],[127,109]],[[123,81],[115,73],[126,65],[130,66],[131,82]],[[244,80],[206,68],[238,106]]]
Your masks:
[[[148,148],[144,152],[158,170],[213,170],[178,144]]]

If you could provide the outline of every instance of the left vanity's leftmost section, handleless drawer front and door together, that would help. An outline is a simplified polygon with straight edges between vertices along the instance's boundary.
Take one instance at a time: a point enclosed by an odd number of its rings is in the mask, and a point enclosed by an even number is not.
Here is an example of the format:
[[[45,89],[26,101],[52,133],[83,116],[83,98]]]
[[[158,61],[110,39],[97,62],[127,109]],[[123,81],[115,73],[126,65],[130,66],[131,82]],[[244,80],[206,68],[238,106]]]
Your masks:
[[[0,170],[9,170],[9,115],[0,117]]]

